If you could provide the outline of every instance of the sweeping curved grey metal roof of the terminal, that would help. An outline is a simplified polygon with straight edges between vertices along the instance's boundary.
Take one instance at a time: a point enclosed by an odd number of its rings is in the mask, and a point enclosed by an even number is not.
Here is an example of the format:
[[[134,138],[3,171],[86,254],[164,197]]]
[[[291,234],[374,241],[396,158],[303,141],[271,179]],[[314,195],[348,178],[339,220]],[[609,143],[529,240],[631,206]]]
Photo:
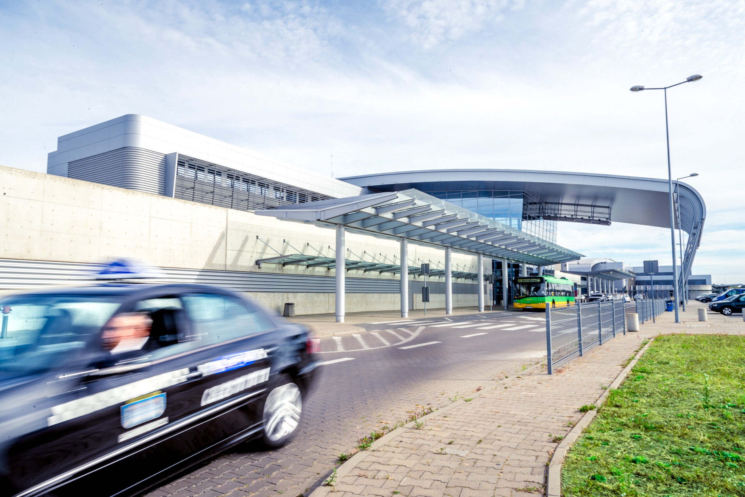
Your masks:
[[[608,208],[607,222],[670,228],[668,180],[611,174],[515,169],[442,169],[378,173],[340,178],[370,191],[519,190],[539,202],[559,206]],[[675,185],[673,185],[674,187]],[[684,275],[701,240],[706,205],[690,185],[679,184],[680,227],[689,234],[683,258]],[[566,217],[548,219],[570,220]],[[598,222],[575,216],[575,222]],[[602,222],[602,221],[600,221]],[[607,223],[604,222],[604,223]],[[677,219],[675,220],[677,228]]]

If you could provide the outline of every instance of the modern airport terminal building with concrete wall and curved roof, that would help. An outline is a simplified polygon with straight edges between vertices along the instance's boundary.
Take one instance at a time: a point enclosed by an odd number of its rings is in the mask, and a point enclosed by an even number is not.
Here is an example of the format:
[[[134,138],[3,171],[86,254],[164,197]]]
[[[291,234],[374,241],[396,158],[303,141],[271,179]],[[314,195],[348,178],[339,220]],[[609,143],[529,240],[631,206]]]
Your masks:
[[[422,263],[431,307],[508,304],[511,278],[582,257],[557,246],[559,221],[670,227],[666,180],[509,169],[333,179],[142,115],[60,136],[47,172],[1,171],[22,218],[0,253],[2,290],[28,288],[28,272],[37,285],[74,283],[129,255],[276,310],[403,315],[422,305]],[[22,187],[35,196],[16,199]],[[676,205],[689,272],[706,208],[684,184]]]

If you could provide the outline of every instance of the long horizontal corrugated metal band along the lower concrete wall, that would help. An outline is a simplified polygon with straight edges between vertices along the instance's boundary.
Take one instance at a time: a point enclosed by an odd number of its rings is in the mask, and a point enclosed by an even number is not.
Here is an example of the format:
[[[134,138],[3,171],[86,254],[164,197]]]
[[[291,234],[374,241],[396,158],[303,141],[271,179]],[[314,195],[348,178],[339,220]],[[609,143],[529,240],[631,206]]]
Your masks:
[[[0,259],[0,289],[39,289],[52,285],[93,283],[101,264],[60,263],[45,260]],[[332,276],[276,275],[263,272],[216,271],[212,269],[163,268],[167,278],[153,283],[202,283],[226,286],[239,292],[334,293]],[[409,288],[421,293],[421,281],[410,281]],[[431,283],[432,293],[444,293],[444,283]],[[398,280],[346,278],[347,293],[399,293]],[[453,293],[475,293],[476,285],[453,283]]]

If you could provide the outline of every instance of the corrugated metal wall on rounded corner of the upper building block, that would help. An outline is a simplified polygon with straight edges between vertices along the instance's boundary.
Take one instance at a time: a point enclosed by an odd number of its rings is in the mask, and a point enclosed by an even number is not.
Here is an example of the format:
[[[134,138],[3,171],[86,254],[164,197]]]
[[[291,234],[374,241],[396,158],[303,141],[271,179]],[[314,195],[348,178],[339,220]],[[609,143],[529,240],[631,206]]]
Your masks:
[[[67,177],[162,195],[165,155],[138,147],[123,147],[70,162]]]

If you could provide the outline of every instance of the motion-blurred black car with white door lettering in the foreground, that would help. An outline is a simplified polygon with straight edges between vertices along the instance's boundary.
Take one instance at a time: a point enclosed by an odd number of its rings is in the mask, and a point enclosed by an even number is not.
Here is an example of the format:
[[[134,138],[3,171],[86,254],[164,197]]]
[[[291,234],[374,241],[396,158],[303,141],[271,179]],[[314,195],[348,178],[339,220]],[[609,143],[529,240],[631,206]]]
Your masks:
[[[259,438],[286,443],[317,339],[213,286],[0,299],[0,495],[142,493]]]

